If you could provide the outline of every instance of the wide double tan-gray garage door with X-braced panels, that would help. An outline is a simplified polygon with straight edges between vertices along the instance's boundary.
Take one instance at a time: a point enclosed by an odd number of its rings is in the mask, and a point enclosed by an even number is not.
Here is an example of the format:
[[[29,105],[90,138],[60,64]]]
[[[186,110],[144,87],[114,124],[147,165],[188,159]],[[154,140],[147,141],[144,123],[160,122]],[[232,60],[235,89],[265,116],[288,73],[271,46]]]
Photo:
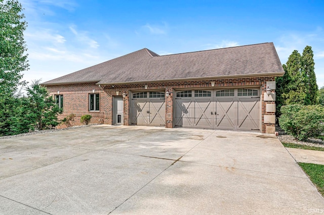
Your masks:
[[[260,90],[177,91],[175,126],[260,131]]]

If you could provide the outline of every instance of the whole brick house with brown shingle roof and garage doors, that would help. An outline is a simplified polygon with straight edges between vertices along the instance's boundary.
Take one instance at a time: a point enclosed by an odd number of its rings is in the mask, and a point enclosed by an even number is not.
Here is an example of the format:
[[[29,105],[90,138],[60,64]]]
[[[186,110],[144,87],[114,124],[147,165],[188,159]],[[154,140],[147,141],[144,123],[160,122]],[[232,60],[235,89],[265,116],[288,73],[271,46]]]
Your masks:
[[[42,85],[76,122],[274,133],[284,73],[272,42],[167,56],[144,48]]]

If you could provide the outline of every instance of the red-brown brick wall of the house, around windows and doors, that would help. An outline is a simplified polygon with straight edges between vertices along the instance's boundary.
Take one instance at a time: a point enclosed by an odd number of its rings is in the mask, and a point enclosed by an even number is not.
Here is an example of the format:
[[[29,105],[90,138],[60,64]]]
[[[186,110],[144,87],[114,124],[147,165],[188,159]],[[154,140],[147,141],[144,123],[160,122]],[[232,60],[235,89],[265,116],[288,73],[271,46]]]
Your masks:
[[[149,90],[169,90],[170,95],[166,97],[166,127],[174,127],[174,110],[173,110],[173,91],[179,89],[212,89],[212,88],[226,88],[226,87],[261,87],[261,132],[266,133],[267,127],[274,127],[274,124],[264,123],[265,115],[274,115],[274,113],[266,112],[266,104],[274,103],[274,101],[264,101],[264,91],[266,89],[265,83],[267,81],[274,81],[274,77],[254,77],[254,78],[232,78],[232,79],[205,79],[205,80],[188,80],[188,81],[168,81],[168,82],[152,82],[152,83],[133,83],[133,84],[119,84],[106,85],[99,87],[96,83],[80,83],[80,84],[64,84],[47,86],[51,95],[63,94],[64,98],[64,113],[60,118],[64,118],[73,113],[76,115],[76,124],[79,123],[79,118],[82,115],[92,115],[91,123],[112,124],[112,101],[113,96],[120,96],[126,92],[124,98],[124,125],[130,123],[130,93],[132,91],[149,91]],[[212,86],[211,82],[215,82]],[[145,87],[147,85],[147,87]],[[145,89],[146,88],[146,89]],[[100,111],[89,111],[89,94],[100,94]],[[117,95],[118,92],[118,95]],[[271,131],[271,129],[269,130]]]

